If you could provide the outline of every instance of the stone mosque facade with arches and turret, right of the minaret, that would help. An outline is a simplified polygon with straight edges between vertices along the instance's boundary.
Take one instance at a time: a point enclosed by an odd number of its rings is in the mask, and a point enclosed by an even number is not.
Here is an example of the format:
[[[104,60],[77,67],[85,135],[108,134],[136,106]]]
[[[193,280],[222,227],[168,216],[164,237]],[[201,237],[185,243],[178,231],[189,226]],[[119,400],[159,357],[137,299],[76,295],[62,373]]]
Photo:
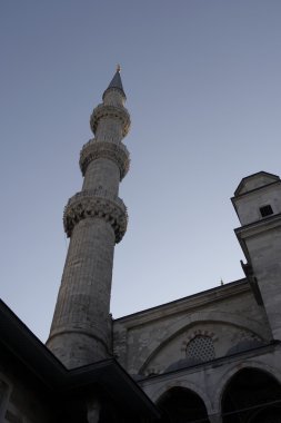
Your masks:
[[[167,422],[281,422],[281,180],[232,198],[245,278],[114,321],[122,366]]]

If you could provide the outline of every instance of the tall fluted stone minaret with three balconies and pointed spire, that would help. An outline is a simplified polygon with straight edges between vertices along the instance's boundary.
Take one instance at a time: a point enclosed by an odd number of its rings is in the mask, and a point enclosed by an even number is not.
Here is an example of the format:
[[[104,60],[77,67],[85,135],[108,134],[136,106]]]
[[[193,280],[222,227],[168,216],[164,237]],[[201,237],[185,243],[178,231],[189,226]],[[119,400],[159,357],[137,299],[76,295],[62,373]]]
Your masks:
[[[70,244],[50,336],[52,353],[68,367],[79,367],[112,354],[109,314],[114,245],[127,229],[127,209],[118,197],[129,169],[122,139],[130,115],[120,67],[92,112],[94,138],[80,154],[82,190],[67,204],[63,225]]]

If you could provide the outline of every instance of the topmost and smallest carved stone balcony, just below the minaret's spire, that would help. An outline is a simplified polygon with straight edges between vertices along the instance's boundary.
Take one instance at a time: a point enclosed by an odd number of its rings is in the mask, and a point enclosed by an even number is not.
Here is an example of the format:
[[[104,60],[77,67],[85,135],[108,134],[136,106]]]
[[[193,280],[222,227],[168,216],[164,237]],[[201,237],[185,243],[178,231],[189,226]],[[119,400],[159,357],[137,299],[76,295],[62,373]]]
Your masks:
[[[123,127],[122,135],[123,137],[127,136],[127,134],[129,132],[130,124],[131,124],[130,115],[127,111],[127,109],[124,107],[104,106],[104,105],[99,105],[98,107],[96,107],[96,109],[93,109],[93,112],[91,115],[90,126],[93,134],[96,134],[100,119],[106,118],[106,117],[120,120]]]

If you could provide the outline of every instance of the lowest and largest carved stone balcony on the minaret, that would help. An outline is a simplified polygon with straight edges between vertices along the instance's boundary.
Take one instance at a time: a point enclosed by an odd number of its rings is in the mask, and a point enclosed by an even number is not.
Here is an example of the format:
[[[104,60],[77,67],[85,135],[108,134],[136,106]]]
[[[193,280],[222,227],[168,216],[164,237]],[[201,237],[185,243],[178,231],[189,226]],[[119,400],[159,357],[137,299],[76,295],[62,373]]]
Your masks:
[[[69,199],[63,214],[68,237],[78,222],[97,217],[110,223],[116,234],[116,243],[119,243],[127,229],[127,208],[120,198],[112,198],[103,189],[84,190]]]

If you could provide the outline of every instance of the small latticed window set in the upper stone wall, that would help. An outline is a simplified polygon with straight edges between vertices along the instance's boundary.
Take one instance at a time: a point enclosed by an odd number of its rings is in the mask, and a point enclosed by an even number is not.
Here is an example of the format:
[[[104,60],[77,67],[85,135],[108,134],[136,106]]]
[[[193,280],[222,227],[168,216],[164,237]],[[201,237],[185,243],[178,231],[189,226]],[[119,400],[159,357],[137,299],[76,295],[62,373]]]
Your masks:
[[[210,336],[197,335],[187,345],[187,357],[199,362],[209,362],[215,357],[213,341]]]

